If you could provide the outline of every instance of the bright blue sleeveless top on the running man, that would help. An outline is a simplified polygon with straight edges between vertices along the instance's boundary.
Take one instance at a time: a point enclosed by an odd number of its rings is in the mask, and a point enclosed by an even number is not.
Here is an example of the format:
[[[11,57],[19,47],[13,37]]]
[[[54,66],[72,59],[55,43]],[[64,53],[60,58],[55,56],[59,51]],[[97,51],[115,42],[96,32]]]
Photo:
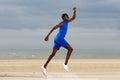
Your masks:
[[[64,39],[67,34],[67,30],[68,30],[68,22],[63,21],[63,26],[59,28],[59,32],[56,36],[56,39]]]

